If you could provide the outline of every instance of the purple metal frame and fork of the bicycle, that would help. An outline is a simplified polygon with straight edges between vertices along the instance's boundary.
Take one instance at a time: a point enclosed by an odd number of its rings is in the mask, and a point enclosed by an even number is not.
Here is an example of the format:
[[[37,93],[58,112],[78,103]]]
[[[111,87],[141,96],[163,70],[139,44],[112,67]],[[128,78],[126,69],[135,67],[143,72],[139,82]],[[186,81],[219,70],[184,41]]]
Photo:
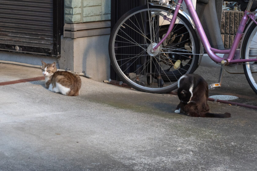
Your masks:
[[[169,28],[168,28],[168,31],[167,31],[167,34],[162,38],[162,40],[160,42],[158,42],[158,44],[153,48],[153,50],[155,51],[161,44],[162,42],[169,36],[169,34],[171,33],[172,29],[173,29],[173,26],[175,24],[175,21],[176,21],[176,17],[177,17],[177,13],[178,13],[178,10],[180,9],[181,7],[181,4],[182,4],[183,0],[178,0],[177,2],[177,5],[176,5],[176,8],[175,8],[175,11],[174,11],[174,14],[173,14],[173,17],[172,17],[172,20],[170,22],[170,25],[169,25]],[[199,37],[203,43],[203,47],[204,49],[206,50],[207,54],[210,56],[210,58],[214,61],[214,62],[217,62],[217,63],[221,63],[222,60],[227,60],[227,64],[232,64],[232,63],[242,63],[242,62],[253,62],[253,61],[257,61],[257,59],[237,59],[237,60],[233,60],[233,57],[235,56],[235,53],[236,53],[236,50],[237,50],[237,47],[239,45],[239,42],[240,42],[240,39],[241,39],[241,36],[244,32],[244,27],[246,25],[246,22],[248,20],[248,16],[251,18],[251,20],[253,20],[256,24],[257,22],[254,20],[254,17],[255,15],[253,14],[249,14],[248,11],[245,11],[244,12],[244,16],[239,24],[239,27],[238,27],[238,30],[237,30],[237,34],[235,36],[235,39],[234,39],[234,42],[232,44],[232,47],[231,49],[229,50],[219,50],[219,49],[214,49],[212,47],[210,47],[210,43],[207,39],[207,36],[203,30],[203,26],[196,14],[196,10],[192,4],[192,1],[191,0],[184,0],[186,6],[187,6],[187,9],[188,9],[188,12],[190,14],[190,16],[192,17],[192,20],[196,26],[196,30],[198,31],[199,33]],[[219,56],[217,56],[215,53],[221,53],[221,54],[229,54],[227,58],[221,58]]]

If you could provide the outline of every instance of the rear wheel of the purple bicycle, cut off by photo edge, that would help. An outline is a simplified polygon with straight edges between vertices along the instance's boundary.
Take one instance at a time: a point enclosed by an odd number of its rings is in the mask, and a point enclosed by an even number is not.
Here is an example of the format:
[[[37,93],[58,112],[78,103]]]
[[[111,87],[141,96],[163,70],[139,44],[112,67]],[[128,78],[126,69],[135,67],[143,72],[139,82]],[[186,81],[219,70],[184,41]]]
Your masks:
[[[257,58],[257,25],[255,23],[249,26],[243,40],[243,59]],[[257,62],[246,62],[243,64],[246,79],[257,94]]]

